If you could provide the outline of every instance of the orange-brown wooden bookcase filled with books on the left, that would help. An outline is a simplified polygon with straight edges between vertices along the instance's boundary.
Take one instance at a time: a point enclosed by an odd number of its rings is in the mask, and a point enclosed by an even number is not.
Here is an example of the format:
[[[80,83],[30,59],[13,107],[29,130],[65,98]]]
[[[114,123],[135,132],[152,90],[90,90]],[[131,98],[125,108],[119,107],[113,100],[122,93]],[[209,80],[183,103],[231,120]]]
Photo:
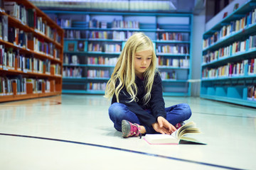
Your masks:
[[[0,102],[60,95],[64,30],[28,0],[0,5]]]

